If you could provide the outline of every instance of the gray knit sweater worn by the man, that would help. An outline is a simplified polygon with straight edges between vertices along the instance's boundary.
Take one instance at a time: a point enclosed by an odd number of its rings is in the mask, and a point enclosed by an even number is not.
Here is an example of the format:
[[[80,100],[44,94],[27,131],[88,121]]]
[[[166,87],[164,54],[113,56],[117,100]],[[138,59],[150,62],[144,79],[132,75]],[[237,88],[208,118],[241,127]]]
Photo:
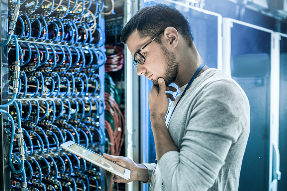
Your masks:
[[[236,191],[250,130],[249,102],[242,88],[209,69],[186,95],[168,131],[178,151],[156,168],[155,191]],[[149,181],[155,164],[149,169]]]

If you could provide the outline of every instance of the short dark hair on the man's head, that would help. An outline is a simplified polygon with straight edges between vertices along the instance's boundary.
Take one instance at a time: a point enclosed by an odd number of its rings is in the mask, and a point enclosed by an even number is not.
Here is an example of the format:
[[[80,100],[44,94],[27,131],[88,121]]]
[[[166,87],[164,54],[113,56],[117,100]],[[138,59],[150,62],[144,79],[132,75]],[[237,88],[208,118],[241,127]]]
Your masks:
[[[136,29],[141,38],[154,38],[167,27],[174,27],[185,38],[187,44],[192,46],[193,35],[189,21],[179,10],[166,4],[144,7],[137,11],[123,27],[120,41],[126,43],[129,35]],[[156,38],[155,41],[161,44],[161,38]]]

